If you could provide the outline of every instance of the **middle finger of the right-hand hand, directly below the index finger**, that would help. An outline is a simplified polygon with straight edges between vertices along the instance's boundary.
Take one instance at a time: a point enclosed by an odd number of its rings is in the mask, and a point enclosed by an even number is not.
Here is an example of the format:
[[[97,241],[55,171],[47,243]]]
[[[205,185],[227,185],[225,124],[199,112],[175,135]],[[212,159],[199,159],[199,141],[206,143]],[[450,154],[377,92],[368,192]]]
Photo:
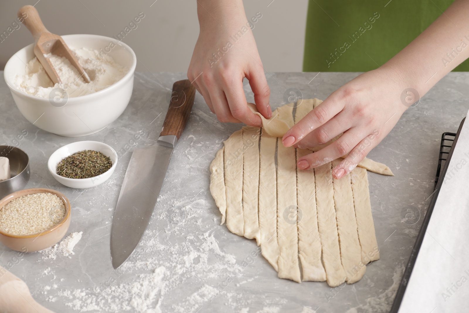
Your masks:
[[[344,111],[334,116],[324,125],[311,131],[295,144],[297,148],[309,148],[328,143],[331,139],[352,127],[352,120]]]

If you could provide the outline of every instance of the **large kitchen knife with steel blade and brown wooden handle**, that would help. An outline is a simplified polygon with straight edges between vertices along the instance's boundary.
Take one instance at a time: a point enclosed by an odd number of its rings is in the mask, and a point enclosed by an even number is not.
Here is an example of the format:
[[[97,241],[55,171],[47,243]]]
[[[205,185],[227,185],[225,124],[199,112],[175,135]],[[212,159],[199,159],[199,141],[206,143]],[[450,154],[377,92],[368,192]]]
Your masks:
[[[195,94],[196,89],[188,79],[175,82],[157,143],[132,153],[111,229],[114,268],[129,258],[148,226],[171,154],[189,119]]]

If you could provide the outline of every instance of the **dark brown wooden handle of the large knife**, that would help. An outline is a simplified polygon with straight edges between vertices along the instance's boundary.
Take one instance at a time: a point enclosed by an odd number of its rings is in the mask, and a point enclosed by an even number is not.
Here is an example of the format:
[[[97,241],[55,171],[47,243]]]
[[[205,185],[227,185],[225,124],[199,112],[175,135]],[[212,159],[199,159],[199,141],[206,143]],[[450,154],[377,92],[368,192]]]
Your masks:
[[[159,136],[176,135],[179,140],[189,120],[195,97],[196,88],[189,79],[179,80],[173,84],[171,101]]]

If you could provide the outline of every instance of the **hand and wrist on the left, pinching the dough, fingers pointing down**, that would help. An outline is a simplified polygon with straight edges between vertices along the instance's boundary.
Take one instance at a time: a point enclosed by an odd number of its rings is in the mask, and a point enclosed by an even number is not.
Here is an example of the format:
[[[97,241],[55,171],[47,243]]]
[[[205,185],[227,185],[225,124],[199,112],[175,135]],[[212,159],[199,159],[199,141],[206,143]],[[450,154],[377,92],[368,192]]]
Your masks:
[[[270,89],[251,30],[259,17],[248,22],[242,0],[219,2],[197,1],[200,33],[187,76],[220,122],[259,127],[262,121],[248,108],[242,85],[246,77],[258,111],[272,117]]]

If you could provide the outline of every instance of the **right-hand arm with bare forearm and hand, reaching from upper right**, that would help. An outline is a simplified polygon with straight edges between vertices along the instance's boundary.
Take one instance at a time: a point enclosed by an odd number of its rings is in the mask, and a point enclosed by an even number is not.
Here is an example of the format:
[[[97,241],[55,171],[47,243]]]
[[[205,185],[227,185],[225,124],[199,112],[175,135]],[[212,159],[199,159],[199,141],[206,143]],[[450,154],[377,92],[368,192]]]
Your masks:
[[[288,130],[283,144],[297,147],[324,144],[343,132],[337,141],[300,158],[298,168],[315,168],[347,153],[333,176],[341,178],[355,168],[408,107],[468,59],[468,14],[469,1],[454,1],[391,60],[340,87]]]

